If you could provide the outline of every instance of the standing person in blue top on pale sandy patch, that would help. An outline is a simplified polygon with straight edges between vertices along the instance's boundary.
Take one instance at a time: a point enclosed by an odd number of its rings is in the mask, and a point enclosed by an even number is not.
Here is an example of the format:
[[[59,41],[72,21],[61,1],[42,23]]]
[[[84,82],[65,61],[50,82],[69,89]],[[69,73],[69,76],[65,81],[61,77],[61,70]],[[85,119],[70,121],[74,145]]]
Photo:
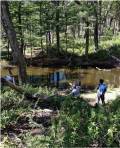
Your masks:
[[[107,91],[107,85],[104,83],[103,79],[100,79],[98,87],[97,87],[97,104],[101,99],[102,104],[105,104],[105,93]]]

